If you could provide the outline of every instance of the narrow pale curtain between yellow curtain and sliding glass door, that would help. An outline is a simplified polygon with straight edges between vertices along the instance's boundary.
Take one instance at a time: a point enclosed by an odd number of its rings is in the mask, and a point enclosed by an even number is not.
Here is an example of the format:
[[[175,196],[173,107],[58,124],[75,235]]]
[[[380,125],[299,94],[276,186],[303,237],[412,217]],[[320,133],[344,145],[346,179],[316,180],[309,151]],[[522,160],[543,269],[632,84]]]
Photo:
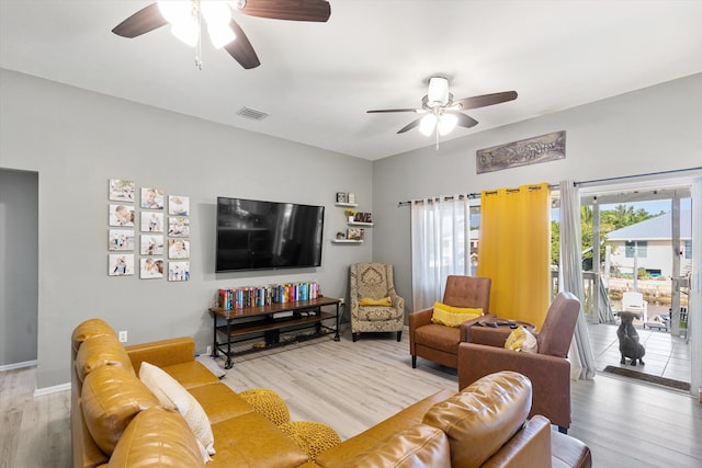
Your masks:
[[[582,250],[580,235],[580,194],[574,181],[561,182],[561,267],[558,269],[558,289],[573,293],[585,304],[585,288],[582,287]],[[582,306],[580,317],[575,328],[575,335],[570,342],[570,377],[591,379],[597,372],[595,356],[590,345],[587,319]]]

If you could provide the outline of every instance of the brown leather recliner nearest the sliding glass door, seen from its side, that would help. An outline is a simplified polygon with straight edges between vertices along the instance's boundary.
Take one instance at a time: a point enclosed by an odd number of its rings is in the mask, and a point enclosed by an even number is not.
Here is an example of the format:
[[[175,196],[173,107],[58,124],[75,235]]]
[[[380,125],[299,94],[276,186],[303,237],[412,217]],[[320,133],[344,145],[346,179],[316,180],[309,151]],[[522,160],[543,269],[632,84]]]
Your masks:
[[[566,359],[580,301],[570,293],[559,293],[551,303],[544,324],[536,335],[537,353],[505,349],[507,329],[473,327],[469,343],[458,346],[458,388],[483,376],[514,370],[533,385],[530,416],[543,414],[563,433],[570,426],[570,363]]]

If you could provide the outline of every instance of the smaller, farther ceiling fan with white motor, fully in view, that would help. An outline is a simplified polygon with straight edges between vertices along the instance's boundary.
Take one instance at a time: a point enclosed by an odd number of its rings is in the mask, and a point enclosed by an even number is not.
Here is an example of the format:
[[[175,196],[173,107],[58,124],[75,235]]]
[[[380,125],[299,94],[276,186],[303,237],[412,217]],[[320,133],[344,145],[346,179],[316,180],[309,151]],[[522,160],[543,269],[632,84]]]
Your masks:
[[[421,109],[384,109],[377,111],[367,111],[373,113],[389,112],[414,112],[417,114],[427,114],[409,124],[405,125],[397,133],[404,134],[415,127],[419,127],[426,136],[437,133],[437,148],[439,147],[439,135],[446,135],[455,128],[456,125],[471,128],[478,124],[475,118],[462,113],[469,109],[486,107],[488,105],[500,104],[517,99],[517,91],[505,91],[492,94],[476,95],[473,98],[453,99],[453,94],[449,92],[449,79],[445,77],[431,77],[429,79],[429,89],[427,94],[421,99]]]

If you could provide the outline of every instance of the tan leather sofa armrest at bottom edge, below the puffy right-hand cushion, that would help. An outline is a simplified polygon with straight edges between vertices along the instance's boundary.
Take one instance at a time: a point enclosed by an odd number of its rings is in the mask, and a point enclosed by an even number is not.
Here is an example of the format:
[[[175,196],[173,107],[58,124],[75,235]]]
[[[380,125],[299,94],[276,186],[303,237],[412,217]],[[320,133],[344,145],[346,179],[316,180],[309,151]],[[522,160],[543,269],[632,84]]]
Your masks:
[[[482,466],[483,468],[551,468],[551,421],[542,415],[535,415]]]

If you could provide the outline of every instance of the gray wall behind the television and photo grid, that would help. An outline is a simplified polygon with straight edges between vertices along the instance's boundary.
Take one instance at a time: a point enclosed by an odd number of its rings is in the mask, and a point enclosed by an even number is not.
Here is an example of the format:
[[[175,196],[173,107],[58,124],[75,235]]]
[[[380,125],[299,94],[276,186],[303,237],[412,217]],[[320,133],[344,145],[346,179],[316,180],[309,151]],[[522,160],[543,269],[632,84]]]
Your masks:
[[[0,70],[0,168],[39,174],[38,388],[70,381],[70,332],[87,318],[127,330],[129,343],[191,335],[204,351],[218,288],[317,279],[342,297],[348,265],[371,260],[373,232],[362,246],[329,241],[346,229],[337,192],[371,209],[370,161],[13,71]],[[190,282],[107,276],[111,178],[190,196]],[[215,274],[218,195],[325,205],[322,266]]]

